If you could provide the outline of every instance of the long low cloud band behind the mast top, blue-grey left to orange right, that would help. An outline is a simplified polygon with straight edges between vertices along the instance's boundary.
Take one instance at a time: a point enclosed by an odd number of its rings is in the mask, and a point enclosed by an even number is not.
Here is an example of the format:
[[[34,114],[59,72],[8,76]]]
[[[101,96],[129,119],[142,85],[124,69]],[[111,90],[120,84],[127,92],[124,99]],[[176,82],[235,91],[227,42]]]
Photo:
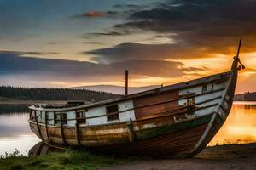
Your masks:
[[[150,65],[150,67],[148,67]],[[127,60],[110,64],[64,59],[41,59],[0,54],[0,77],[32,77],[32,81],[120,81],[125,69],[133,77],[183,77],[188,71],[207,69],[187,68],[181,62],[163,60]],[[15,76],[16,75],[16,76]],[[119,79],[119,80],[118,80]]]

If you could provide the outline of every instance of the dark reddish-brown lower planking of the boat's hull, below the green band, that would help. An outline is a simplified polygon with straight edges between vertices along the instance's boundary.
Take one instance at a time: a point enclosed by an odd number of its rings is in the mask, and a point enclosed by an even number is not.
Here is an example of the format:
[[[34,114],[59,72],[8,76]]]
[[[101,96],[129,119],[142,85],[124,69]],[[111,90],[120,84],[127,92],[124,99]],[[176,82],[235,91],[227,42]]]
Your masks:
[[[153,139],[143,139],[132,143],[105,147],[93,147],[92,150],[101,153],[134,154],[137,156],[186,157],[200,139],[206,127],[207,124],[202,124]]]

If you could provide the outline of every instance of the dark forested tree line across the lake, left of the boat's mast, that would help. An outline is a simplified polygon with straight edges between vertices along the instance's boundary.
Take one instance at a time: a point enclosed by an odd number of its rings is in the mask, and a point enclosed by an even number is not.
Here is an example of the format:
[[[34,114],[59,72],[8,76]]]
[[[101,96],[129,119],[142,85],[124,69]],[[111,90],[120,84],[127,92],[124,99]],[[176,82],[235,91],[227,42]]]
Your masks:
[[[106,92],[96,92],[87,89],[71,88],[16,88],[12,86],[0,86],[0,97],[12,99],[35,100],[84,100],[102,101],[114,99],[120,95]]]

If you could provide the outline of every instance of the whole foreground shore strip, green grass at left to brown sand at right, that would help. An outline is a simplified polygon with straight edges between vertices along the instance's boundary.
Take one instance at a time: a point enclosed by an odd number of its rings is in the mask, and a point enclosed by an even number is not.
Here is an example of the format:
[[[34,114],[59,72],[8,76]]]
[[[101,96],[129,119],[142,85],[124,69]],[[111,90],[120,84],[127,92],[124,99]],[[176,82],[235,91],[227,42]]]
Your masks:
[[[198,170],[252,169],[256,167],[256,143],[208,146],[187,159],[163,159],[140,156],[102,156],[86,151],[67,150],[48,155],[19,156],[18,152],[0,158],[3,169],[103,169],[103,170]],[[18,168],[19,167],[19,168]]]

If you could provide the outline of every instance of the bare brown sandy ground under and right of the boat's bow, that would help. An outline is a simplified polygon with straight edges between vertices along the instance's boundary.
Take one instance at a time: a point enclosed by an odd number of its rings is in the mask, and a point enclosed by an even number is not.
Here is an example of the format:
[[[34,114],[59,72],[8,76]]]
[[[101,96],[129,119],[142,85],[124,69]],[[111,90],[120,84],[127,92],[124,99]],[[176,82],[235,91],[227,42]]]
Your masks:
[[[147,158],[129,164],[102,168],[105,170],[204,170],[204,169],[253,169],[256,170],[256,144],[229,144],[207,147],[190,159]]]

